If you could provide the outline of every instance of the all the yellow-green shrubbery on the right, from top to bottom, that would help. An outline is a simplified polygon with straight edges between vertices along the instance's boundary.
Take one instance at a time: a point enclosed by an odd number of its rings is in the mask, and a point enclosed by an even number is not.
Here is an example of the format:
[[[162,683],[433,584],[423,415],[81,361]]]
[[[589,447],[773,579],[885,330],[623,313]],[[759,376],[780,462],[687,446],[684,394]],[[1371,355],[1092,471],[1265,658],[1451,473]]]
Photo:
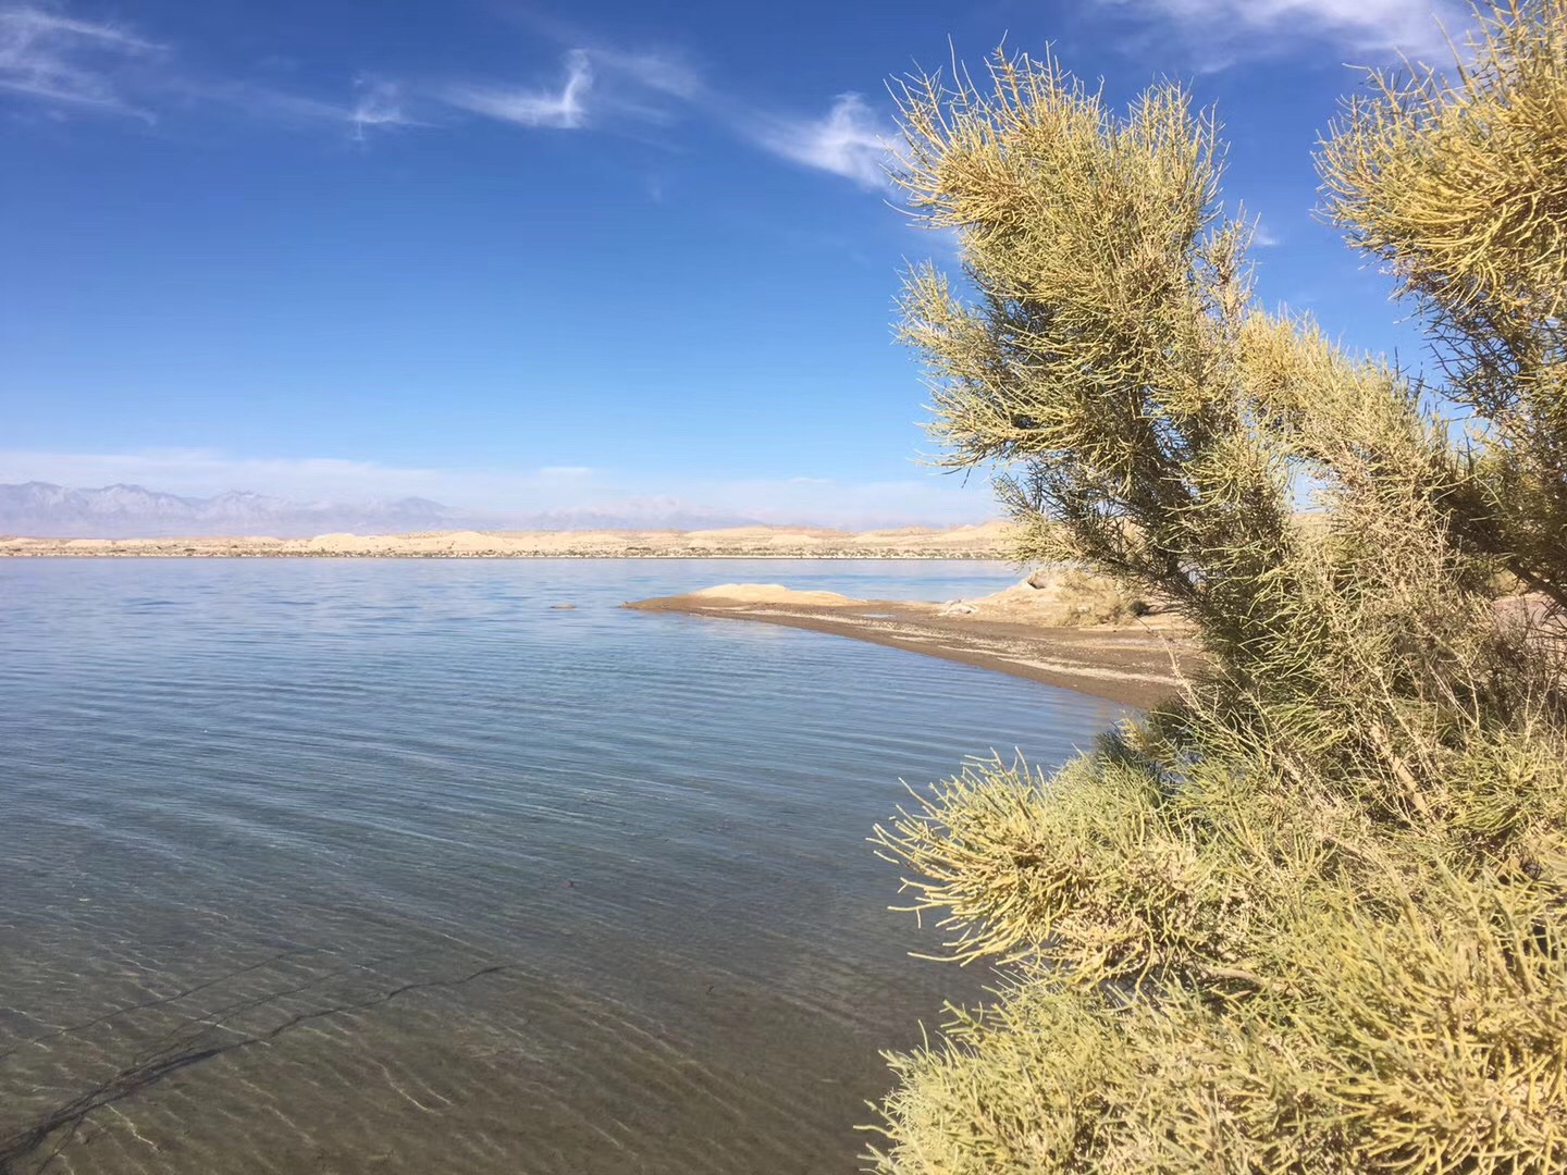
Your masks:
[[[906,88],[899,179],[972,287],[904,295],[950,462],[1003,468],[1022,558],[1174,602],[1211,672],[876,830],[1001,968],[892,1058],[876,1170],[1567,1170],[1567,5],[1489,6],[1467,53],[1323,155],[1440,395],[1254,304],[1178,88],[1117,116],[1004,56]]]

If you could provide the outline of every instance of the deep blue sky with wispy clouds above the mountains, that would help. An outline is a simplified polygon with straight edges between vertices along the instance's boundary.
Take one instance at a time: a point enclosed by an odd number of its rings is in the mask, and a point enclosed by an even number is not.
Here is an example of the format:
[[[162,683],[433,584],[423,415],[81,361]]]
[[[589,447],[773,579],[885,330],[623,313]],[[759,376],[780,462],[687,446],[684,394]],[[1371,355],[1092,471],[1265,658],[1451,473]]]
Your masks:
[[[885,80],[1003,36],[1218,103],[1266,302],[1420,365],[1312,216],[1431,0],[0,0],[0,481],[983,519],[917,464]]]

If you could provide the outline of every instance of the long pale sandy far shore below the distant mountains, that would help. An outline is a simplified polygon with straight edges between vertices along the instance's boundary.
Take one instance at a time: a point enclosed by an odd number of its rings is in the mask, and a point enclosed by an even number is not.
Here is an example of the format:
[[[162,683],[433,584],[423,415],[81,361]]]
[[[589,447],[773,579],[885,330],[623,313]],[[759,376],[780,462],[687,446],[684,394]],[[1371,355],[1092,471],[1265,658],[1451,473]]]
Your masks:
[[[431,531],[313,539],[30,539],[0,536],[0,556],[373,558],[373,559],[997,559],[1006,523],[834,531],[732,526],[710,531]]]

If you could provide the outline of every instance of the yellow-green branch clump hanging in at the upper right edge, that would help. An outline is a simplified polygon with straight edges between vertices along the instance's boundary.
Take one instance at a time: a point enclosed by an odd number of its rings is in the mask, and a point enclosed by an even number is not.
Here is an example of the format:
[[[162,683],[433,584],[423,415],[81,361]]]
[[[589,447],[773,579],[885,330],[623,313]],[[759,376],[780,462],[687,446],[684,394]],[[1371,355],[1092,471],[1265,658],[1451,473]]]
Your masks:
[[[1484,6],[1471,50],[1349,103],[1323,146],[1327,210],[1426,312],[1451,395],[1506,442],[1471,542],[1567,603],[1567,580],[1531,566],[1567,528],[1567,0]]]

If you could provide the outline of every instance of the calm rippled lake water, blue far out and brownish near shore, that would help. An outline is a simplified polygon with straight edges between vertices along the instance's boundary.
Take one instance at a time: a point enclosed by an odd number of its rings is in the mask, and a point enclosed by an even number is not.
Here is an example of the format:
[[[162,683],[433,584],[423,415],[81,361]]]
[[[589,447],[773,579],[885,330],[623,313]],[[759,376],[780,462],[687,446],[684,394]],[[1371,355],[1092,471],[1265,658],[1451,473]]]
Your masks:
[[[617,605],[1011,578],[0,559],[0,1172],[854,1170],[984,982],[885,910],[898,779],[1117,711]]]

